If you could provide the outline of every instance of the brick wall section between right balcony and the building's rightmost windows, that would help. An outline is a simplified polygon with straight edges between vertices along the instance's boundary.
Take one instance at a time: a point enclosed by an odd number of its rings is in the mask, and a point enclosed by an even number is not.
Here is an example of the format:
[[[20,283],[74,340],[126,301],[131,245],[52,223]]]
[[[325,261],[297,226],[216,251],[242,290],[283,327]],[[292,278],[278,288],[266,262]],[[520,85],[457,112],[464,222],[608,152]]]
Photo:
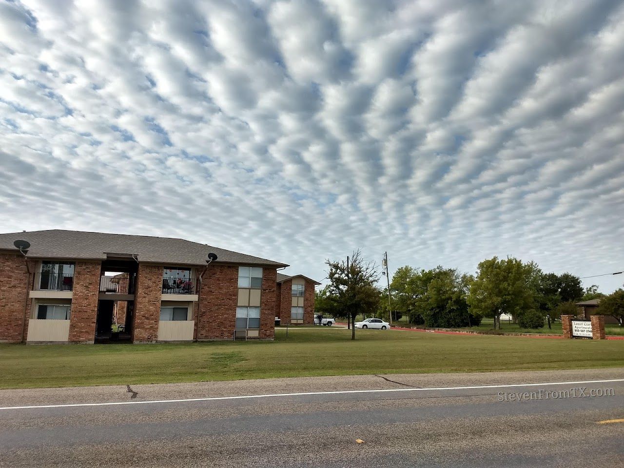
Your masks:
[[[208,265],[198,301],[197,339],[232,339],[237,303],[238,266]]]

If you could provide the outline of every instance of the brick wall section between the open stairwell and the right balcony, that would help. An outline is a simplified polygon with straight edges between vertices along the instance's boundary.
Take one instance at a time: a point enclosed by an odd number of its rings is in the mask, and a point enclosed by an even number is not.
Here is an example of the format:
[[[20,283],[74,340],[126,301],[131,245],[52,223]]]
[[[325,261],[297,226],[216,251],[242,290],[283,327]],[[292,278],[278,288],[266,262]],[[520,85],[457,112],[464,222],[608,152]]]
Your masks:
[[[134,343],[158,340],[162,274],[162,265],[139,263],[137,293],[134,300],[134,324],[132,325],[132,341]]]

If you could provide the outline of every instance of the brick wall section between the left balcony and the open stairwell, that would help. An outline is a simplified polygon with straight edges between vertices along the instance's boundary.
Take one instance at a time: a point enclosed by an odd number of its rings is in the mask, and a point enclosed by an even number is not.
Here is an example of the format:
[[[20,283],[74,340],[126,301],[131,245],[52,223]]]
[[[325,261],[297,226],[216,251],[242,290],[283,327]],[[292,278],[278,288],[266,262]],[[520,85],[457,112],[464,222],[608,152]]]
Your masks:
[[[101,273],[102,263],[99,261],[76,262],[69,341],[93,343],[95,340],[95,318],[97,317],[97,296],[100,290]]]

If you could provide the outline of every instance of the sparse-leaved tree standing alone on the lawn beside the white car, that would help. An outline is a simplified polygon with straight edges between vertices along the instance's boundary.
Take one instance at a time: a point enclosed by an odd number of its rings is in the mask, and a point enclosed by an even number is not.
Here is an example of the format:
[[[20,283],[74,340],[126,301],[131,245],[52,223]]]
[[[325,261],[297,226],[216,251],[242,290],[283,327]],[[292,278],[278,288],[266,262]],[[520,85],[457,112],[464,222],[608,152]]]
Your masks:
[[[377,266],[374,262],[366,262],[359,250],[353,252],[351,261],[330,261],[329,294],[336,300],[341,313],[345,313],[351,323],[358,314],[374,316],[379,309],[379,280]],[[351,328],[351,339],[355,339],[355,327]]]

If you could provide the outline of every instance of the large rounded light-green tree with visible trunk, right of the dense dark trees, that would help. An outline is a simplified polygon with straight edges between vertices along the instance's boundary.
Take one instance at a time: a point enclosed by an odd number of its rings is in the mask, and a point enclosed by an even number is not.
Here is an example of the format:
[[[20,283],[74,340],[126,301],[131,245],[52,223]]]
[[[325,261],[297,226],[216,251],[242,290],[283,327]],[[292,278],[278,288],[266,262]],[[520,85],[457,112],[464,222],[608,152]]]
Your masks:
[[[500,314],[518,316],[533,308],[534,273],[534,264],[522,263],[517,258],[499,260],[494,257],[482,261],[467,297],[470,310],[493,317],[494,328],[500,329]]]

